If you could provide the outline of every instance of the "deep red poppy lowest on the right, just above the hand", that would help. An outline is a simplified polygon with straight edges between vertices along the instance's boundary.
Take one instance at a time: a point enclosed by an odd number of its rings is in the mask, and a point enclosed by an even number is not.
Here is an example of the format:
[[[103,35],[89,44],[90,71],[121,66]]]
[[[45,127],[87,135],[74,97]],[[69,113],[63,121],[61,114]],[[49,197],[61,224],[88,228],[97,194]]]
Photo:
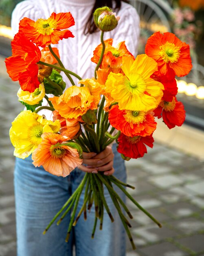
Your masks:
[[[118,152],[129,158],[143,157],[147,153],[147,146],[153,147],[154,139],[152,134],[146,137],[128,137],[123,133],[118,137]]]

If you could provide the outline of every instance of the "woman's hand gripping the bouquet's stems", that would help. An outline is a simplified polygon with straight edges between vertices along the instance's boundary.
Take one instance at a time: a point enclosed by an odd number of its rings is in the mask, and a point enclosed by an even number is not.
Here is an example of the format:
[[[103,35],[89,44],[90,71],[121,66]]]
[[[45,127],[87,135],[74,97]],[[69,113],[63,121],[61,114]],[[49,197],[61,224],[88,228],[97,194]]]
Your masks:
[[[110,146],[107,146],[101,153],[83,152],[83,164],[78,166],[81,171],[86,173],[98,173],[104,171],[104,175],[112,175],[114,153]],[[85,166],[86,164],[86,166]]]

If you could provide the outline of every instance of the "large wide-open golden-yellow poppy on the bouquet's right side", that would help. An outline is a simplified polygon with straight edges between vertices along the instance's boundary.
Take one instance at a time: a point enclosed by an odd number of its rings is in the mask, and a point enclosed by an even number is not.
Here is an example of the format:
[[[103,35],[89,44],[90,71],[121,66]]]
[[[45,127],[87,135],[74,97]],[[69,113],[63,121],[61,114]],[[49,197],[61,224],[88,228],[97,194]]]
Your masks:
[[[125,76],[111,72],[105,83],[106,92],[118,102],[119,109],[147,112],[157,107],[164,86],[150,78],[158,70],[156,61],[146,54],[138,55],[135,61],[125,56],[122,70]]]

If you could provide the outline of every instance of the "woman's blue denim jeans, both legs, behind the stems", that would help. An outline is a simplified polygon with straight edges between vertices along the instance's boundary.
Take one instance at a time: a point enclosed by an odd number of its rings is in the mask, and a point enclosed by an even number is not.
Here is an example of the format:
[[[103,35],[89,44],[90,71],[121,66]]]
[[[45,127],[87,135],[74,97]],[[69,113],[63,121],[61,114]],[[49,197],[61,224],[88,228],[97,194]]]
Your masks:
[[[125,182],[124,161],[115,146],[113,151],[114,176]],[[105,198],[115,221],[112,223],[104,210],[103,230],[99,230],[97,226],[94,239],[91,238],[94,207],[87,213],[86,221],[83,215],[79,218],[68,243],[65,238],[70,214],[59,226],[54,222],[47,233],[42,234],[50,220],[75,191],[84,174],[76,168],[65,178],[57,177],[41,167],[35,168],[31,157],[16,159],[14,186],[18,256],[72,256],[73,244],[76,247],[76,256],[125,256],[125,230],[106,189]],[[118,188],[114,189],[125,201],[124,194]],[[83,204],[83,193],[78,211]]]

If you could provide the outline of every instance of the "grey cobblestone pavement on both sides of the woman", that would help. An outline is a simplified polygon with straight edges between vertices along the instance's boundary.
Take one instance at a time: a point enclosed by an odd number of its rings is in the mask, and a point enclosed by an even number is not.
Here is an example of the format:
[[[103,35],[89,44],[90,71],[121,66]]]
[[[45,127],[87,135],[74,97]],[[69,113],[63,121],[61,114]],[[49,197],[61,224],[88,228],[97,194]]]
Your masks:
[[[0,57],[0,256],[16,256],[13,146],[9,128],[22,110]],[[204,160],[161,142],[140,159],[126,162],[128,189],[162,223],[152,222],[127,200],[134,242],[127,256],[204,256]],[[29,255],[28,255],[29,256]],[[57,256],[57,255],[56,255]]]

